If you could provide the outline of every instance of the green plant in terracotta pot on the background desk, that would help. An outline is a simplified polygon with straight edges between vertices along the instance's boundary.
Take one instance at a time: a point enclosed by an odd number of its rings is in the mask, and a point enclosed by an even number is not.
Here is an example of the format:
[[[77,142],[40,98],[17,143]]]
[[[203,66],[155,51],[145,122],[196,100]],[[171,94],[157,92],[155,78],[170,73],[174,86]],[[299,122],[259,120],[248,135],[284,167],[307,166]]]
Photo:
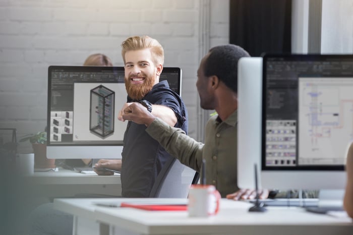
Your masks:
[[[23,137],[20,142],[29,141],[34,152],[34,168],[55,168],[55,159],[46,157],[46,132]]]

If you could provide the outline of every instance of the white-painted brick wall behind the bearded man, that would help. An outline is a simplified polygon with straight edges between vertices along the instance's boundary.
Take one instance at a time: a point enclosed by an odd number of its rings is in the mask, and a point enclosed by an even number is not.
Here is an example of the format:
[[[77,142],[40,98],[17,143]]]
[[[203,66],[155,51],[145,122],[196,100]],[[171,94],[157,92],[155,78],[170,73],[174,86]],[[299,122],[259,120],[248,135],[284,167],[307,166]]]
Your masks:
[[[96,52],[122,66],[121,42],[149,35],[165,67],[183,69],[189,134],[196,137],[199,6],[203,0],[0,0],[0,128],[46,126],[47,68],[82,65]],[[229,1],[211,0],[211,46],[228,42]]]

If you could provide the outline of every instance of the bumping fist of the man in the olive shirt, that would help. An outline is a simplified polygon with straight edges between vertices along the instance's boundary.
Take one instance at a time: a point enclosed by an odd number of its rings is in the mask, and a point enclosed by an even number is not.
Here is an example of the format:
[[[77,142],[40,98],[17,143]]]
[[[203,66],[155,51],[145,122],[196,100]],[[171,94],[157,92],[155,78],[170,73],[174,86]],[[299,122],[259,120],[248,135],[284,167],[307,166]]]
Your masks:
[[[155,119],[155,116],[153,116],[145,106],[134,102],[124,108],[122,119],[149,126]]]

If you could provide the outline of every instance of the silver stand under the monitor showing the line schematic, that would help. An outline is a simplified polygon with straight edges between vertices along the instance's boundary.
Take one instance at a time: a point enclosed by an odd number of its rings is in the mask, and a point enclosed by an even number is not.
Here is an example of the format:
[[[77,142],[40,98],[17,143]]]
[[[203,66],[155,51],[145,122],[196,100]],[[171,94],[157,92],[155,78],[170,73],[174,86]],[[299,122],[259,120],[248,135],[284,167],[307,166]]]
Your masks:
[[[318,206],[307,207],[306,210],[320,214],[326,214],[328,211],[342,211],[343,196],[343,189],[320,190]]]

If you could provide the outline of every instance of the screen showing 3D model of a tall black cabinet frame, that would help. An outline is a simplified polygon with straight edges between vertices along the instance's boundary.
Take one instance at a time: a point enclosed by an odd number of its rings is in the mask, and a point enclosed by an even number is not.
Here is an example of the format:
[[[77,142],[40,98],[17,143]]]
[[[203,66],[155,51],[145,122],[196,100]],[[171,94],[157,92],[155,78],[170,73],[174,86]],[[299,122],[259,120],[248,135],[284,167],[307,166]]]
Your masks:
[[[51,66],[48,73],[49,145],[123,143],[123,67]]]

